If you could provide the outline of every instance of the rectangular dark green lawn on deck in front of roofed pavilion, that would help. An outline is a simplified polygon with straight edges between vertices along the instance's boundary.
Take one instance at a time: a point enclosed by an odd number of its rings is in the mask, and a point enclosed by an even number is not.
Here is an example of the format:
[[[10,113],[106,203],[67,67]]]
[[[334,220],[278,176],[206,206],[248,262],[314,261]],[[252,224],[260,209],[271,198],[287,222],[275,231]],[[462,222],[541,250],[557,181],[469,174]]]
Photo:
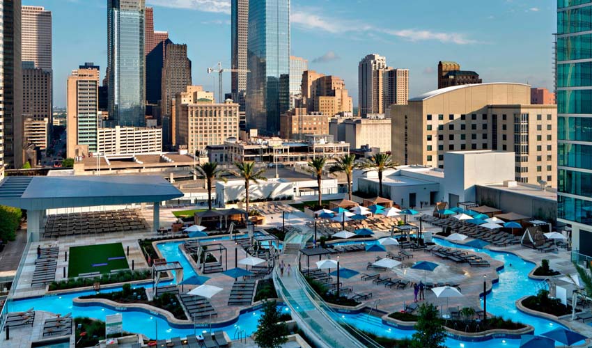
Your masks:
[[[69,256],[68,277],[70,278],[82,273],[109,273],[113,269],[130,268],[121,243],[73,246],[70,248]],[[108,260],[109,258],[118,259]]]

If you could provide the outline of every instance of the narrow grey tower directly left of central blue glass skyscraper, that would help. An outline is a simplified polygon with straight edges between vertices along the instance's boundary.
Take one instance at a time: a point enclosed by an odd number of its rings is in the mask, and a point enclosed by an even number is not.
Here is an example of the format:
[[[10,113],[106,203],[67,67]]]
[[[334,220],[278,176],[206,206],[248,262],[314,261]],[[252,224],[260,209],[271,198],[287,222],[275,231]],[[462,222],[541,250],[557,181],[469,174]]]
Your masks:
[[[232,0],[231,4],[231,54],[232,68],[247,69],[247,35],[249,29],[249,0]],[[247,73],[231,73],[231,93],[234,102],[244,111],[244,94],[247,90]]]

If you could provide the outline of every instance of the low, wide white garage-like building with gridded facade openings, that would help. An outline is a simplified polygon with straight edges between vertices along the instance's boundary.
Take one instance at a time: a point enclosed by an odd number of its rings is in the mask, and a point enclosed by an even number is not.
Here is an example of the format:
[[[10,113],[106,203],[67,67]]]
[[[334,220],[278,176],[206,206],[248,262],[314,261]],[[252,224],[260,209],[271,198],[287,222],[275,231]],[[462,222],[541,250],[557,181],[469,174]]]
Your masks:
[[[134,155],[162,151],[162,129],[120,127],[98,129],[101,155]]]

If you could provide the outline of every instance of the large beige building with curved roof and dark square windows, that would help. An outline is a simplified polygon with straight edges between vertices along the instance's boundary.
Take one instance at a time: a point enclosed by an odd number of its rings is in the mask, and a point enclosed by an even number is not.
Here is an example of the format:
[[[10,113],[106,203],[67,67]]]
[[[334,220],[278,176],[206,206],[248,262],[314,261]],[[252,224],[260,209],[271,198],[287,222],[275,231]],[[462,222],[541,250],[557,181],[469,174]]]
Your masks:
[[[393,159],[444,168],[444,152],[516,152],[515,180],[556,185],[556,106],[530,104],[525,84],[433,90],[392,106]]]

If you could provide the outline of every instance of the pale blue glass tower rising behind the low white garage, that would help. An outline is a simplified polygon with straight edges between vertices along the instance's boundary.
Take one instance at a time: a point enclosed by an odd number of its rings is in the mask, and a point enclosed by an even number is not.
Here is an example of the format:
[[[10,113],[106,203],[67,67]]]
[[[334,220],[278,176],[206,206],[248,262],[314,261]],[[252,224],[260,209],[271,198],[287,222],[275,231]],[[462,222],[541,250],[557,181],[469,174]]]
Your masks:
[[[115,125],[146,125],[144,63],[144,0],[107,0],[109,118]]]

